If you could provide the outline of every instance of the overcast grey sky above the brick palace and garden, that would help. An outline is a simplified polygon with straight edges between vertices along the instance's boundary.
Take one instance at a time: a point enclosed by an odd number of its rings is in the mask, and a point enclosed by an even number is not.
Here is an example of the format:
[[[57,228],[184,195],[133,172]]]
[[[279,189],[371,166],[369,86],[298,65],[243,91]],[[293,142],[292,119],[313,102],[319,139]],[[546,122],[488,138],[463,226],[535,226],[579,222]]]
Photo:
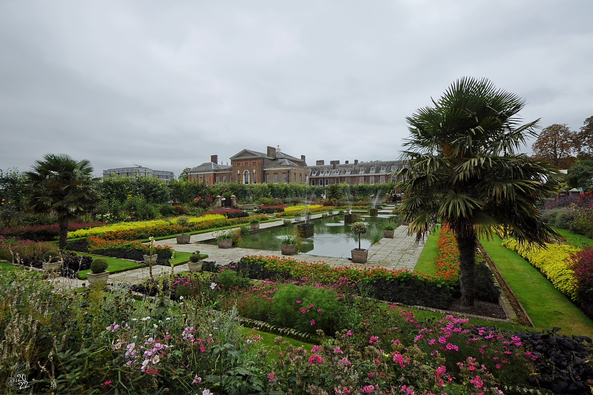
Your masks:
[[[0,169],[68,153],[96,175],[178,175],[276,144],[310,165],[396,159],[405,117],[463,76],[578,130],[592,15],[591,0],[2,1]]]

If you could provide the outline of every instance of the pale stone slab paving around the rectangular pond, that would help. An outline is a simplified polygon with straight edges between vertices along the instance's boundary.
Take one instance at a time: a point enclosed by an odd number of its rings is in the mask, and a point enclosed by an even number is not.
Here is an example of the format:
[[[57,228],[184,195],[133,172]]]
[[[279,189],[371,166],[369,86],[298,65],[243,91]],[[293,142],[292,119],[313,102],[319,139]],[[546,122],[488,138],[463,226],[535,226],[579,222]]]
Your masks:
[[[393,207],[387,206],[384,210],[379,211],[380,214],[391,214]],[[314,214],[312,219],[321,218],[321,214]],[[292,220],[294,222],[294,219]],[[260,230],[268,229],[270,227],[283,226],[282,221],[273,221],[260,224]],[[256,231],[257,232],[257,231]],[[282,255],[280,252],[256,250],[248,248],[228,248],[221,249],[215,245],[205,244],[208,240],[213,240],[213,232],[200,233],[199,235],[192,235],[192,241],[188,244],[178,245],[175,238],[159,240],[158,244],[170,245],[176,251],[195,252],[199,250],[202,253],[208,254],[208,261],[216,261],[221,265],[228,265],[229,262],[237,262],[245,255],[269,255],[269,256],[291,256],[291,258],[299,261],[318,262],[324,261],[326,264],[335,266],[382,266],[384,268],[395,269],[414,269],[420,252],[422,252],[423,245],[417,245],[415,237],[407,235],[407,226],[399,226],[394,232],[393,239],[383,238],[380,242],[375,243],[369,248],[368,261],[366,264],[353,264],[348,258],[334,258],[330,256],[310,255],[307,253],[299,253],[297,255]],[[345,252],[349,255],[349,252]],[[188,270],[187,264],[175,266],[175,271]],[[160,274],[162,271],[170,271],[171,266],[152,266],[154,275]],[[148,268],[133,269],[125,272],[114,273],[109,275],[109,281],[127,281],[138,283],[149,277]],[[56,279],[63,287],[81,287],[83,280],[72,280],[63,277]]]

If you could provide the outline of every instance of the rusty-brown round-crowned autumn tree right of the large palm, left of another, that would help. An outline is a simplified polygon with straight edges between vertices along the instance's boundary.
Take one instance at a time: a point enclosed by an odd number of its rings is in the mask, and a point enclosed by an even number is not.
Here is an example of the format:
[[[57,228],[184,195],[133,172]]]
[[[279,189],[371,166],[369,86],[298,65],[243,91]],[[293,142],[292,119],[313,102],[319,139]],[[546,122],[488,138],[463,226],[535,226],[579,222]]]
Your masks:
[[[541,131],[535,143],[531,145],[535,159],[547,160],[559,168],[566,169],[574,160],[569,160],[572,153],[578,151],[578,137],[565,123],[553,124]],[[572,162],[572,163],[571,163]]]

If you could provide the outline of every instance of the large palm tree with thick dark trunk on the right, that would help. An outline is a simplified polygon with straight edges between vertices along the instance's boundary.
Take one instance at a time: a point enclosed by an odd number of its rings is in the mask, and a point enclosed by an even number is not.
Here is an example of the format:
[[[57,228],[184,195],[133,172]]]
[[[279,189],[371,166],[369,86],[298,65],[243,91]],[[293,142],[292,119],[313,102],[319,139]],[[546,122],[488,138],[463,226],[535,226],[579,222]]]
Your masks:
[[[515,153],[535,136],[539,120],[521,124],[524,99],[487,79],[462,78],[433,107],[406,120],[407,166],[397,172],[400,205],[417,241],[448,223],[460,251],[461,297],[473,306],[478,237],[493,231],[538,245],[562,236],[541,221],[537,200],[551,197],[559,172],[547,162]]]

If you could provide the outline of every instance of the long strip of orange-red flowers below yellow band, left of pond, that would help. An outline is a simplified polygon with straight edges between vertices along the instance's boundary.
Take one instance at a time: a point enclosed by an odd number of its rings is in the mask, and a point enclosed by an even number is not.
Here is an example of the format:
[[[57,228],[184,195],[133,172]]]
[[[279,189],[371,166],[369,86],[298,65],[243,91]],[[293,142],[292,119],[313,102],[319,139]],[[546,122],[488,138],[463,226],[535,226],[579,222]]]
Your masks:
[[[138,229],[127,229],[127,230],[119,230],[116,232],[105,232],[95,237],[99,237],[100,239],[104,240],[137,240],[137,239],[148,239],[148,237],[158,237],[158,236],[170,236],[170,235],[177,235],[181,232],[196,232],[198,230],[207,230],[213,229],[217,227],[224,227],[224,226],[232,226],[232,225],[239,225],[243,223],[247,223],[248,219],[257,218],[260,221],[268,220],[268,216],[264,215],[256,215],[253,217],[241,217],[241,218],[222,218],[222,219],[213,219],[213,220],[205,220],[197,223],[191,223],[190,226],[182,227],[176,224],[162,224],[158,226],[149,226],[149,227],[141,227]]]

